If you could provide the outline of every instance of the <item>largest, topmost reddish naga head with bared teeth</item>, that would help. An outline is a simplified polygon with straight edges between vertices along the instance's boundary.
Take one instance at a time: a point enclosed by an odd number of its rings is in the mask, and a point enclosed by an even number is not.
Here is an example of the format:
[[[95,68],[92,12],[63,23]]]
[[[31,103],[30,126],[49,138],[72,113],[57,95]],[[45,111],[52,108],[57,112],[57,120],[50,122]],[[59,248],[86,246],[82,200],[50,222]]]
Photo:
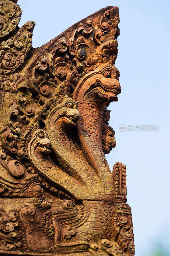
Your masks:
[[[109,63],[101,64],[79,82],[74,99],[99,101],[100,104],[101,102],[118,101],[117,95],[121,92],[118,80],[119,71],[115,66]]]

